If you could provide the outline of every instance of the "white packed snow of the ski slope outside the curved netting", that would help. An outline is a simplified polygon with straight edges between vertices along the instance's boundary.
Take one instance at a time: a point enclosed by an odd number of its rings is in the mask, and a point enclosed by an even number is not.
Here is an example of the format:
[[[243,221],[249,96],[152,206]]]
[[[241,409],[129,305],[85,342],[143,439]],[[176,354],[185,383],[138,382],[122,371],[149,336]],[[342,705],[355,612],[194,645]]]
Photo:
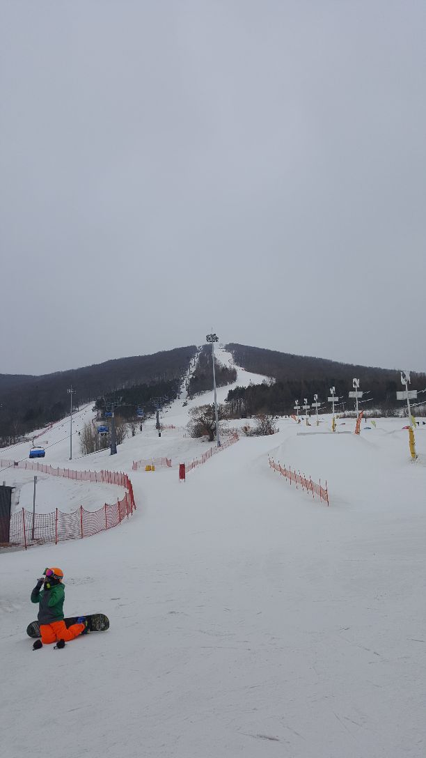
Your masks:
[[[183,437],[201,402],[211,393],[181,397],[161,419],[177,428],[158,437],[147,421],[117,456],[69,462],[69,420],[49,431],[44,462],[127,471],[138,509],[96,537],[0,555],[2,753],[421,758],[426,426],[412,463],[401,419],[362,422],[359,436],[318,434],[328,415],[318,428],[279,419],[277,434],[242,437],[179,484],[177,463],[208,449]],[[131,471],[165,455],[172,468]],[[327,480],[330,507],[268,455]],[[64,571],[66,614],[104,612],[108,632],[32,651],[30,591],[49,565]]]

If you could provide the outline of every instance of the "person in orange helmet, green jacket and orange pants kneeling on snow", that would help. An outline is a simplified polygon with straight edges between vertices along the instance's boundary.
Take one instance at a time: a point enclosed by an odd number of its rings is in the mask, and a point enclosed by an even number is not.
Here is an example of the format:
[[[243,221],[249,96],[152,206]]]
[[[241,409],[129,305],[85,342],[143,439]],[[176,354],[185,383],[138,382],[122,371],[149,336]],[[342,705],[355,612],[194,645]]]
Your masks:
[[[84,616],[79,616],[78,623],[69,628],[65,625],[63,578],[64,572],[61,568],[45,568],[43,576],[37,579],[36,587],[31,593],[31,602],[39,603],[37,618],[42,635],[41,641],[36,640],[33,644],[33,650],[38,650],[43,644],[49,645],[56,641],[57,647],[64,647],[65,641],[74,640],[74,637],[88,631]],[[43,589],[42,584],[44,584]]]

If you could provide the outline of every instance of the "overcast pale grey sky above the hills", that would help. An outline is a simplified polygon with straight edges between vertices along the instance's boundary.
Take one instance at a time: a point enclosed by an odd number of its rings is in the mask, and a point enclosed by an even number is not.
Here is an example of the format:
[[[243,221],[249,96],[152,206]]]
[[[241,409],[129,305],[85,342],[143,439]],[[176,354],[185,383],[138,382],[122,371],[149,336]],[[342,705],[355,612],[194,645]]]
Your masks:
[[[1,0],[2,373],[426,371],[424,0]]]

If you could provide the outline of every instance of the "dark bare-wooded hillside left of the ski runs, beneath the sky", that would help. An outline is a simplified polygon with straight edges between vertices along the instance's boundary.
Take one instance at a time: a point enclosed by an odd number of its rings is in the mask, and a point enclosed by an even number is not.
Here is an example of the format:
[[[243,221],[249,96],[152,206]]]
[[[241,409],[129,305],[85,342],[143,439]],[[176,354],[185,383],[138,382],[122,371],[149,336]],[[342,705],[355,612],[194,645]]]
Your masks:
[[[114,390],[180,379],[196,350],[195,345],[177,347],[42,376],[0,374],[0,444],[67,415],[71,385],[74,402],[81,405]]]

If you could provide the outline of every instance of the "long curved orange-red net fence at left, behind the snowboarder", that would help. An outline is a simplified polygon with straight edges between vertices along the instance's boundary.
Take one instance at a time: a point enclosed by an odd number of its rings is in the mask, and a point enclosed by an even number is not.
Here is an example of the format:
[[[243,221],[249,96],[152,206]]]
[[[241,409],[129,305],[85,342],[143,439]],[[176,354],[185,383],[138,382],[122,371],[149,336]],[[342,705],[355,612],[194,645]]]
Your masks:
[[[64,540],[77,540],[83,537],[92,537],[99,531],[105,531],[121,524],[124,518],[133,515],[136,503],[133,496],[132,483],[127,474],[117,471],[76,471],[70,468],[54,468],[40,463],[6,462],[27,468],[33,471],[41,471],[43,474],[61,476],[74,481],[93,481],[103,484],[118,484],[127,490],[117,503],[105,503],[97,511],[86,511],[80,506],[77,511],[63,513],[58,508],[50,513],[36,513],[33,522],[33,513],[22,509],[11,515],[9,528],[9,544],[14,547],[27,547],[41,545],[46,542],[58,542]]]

